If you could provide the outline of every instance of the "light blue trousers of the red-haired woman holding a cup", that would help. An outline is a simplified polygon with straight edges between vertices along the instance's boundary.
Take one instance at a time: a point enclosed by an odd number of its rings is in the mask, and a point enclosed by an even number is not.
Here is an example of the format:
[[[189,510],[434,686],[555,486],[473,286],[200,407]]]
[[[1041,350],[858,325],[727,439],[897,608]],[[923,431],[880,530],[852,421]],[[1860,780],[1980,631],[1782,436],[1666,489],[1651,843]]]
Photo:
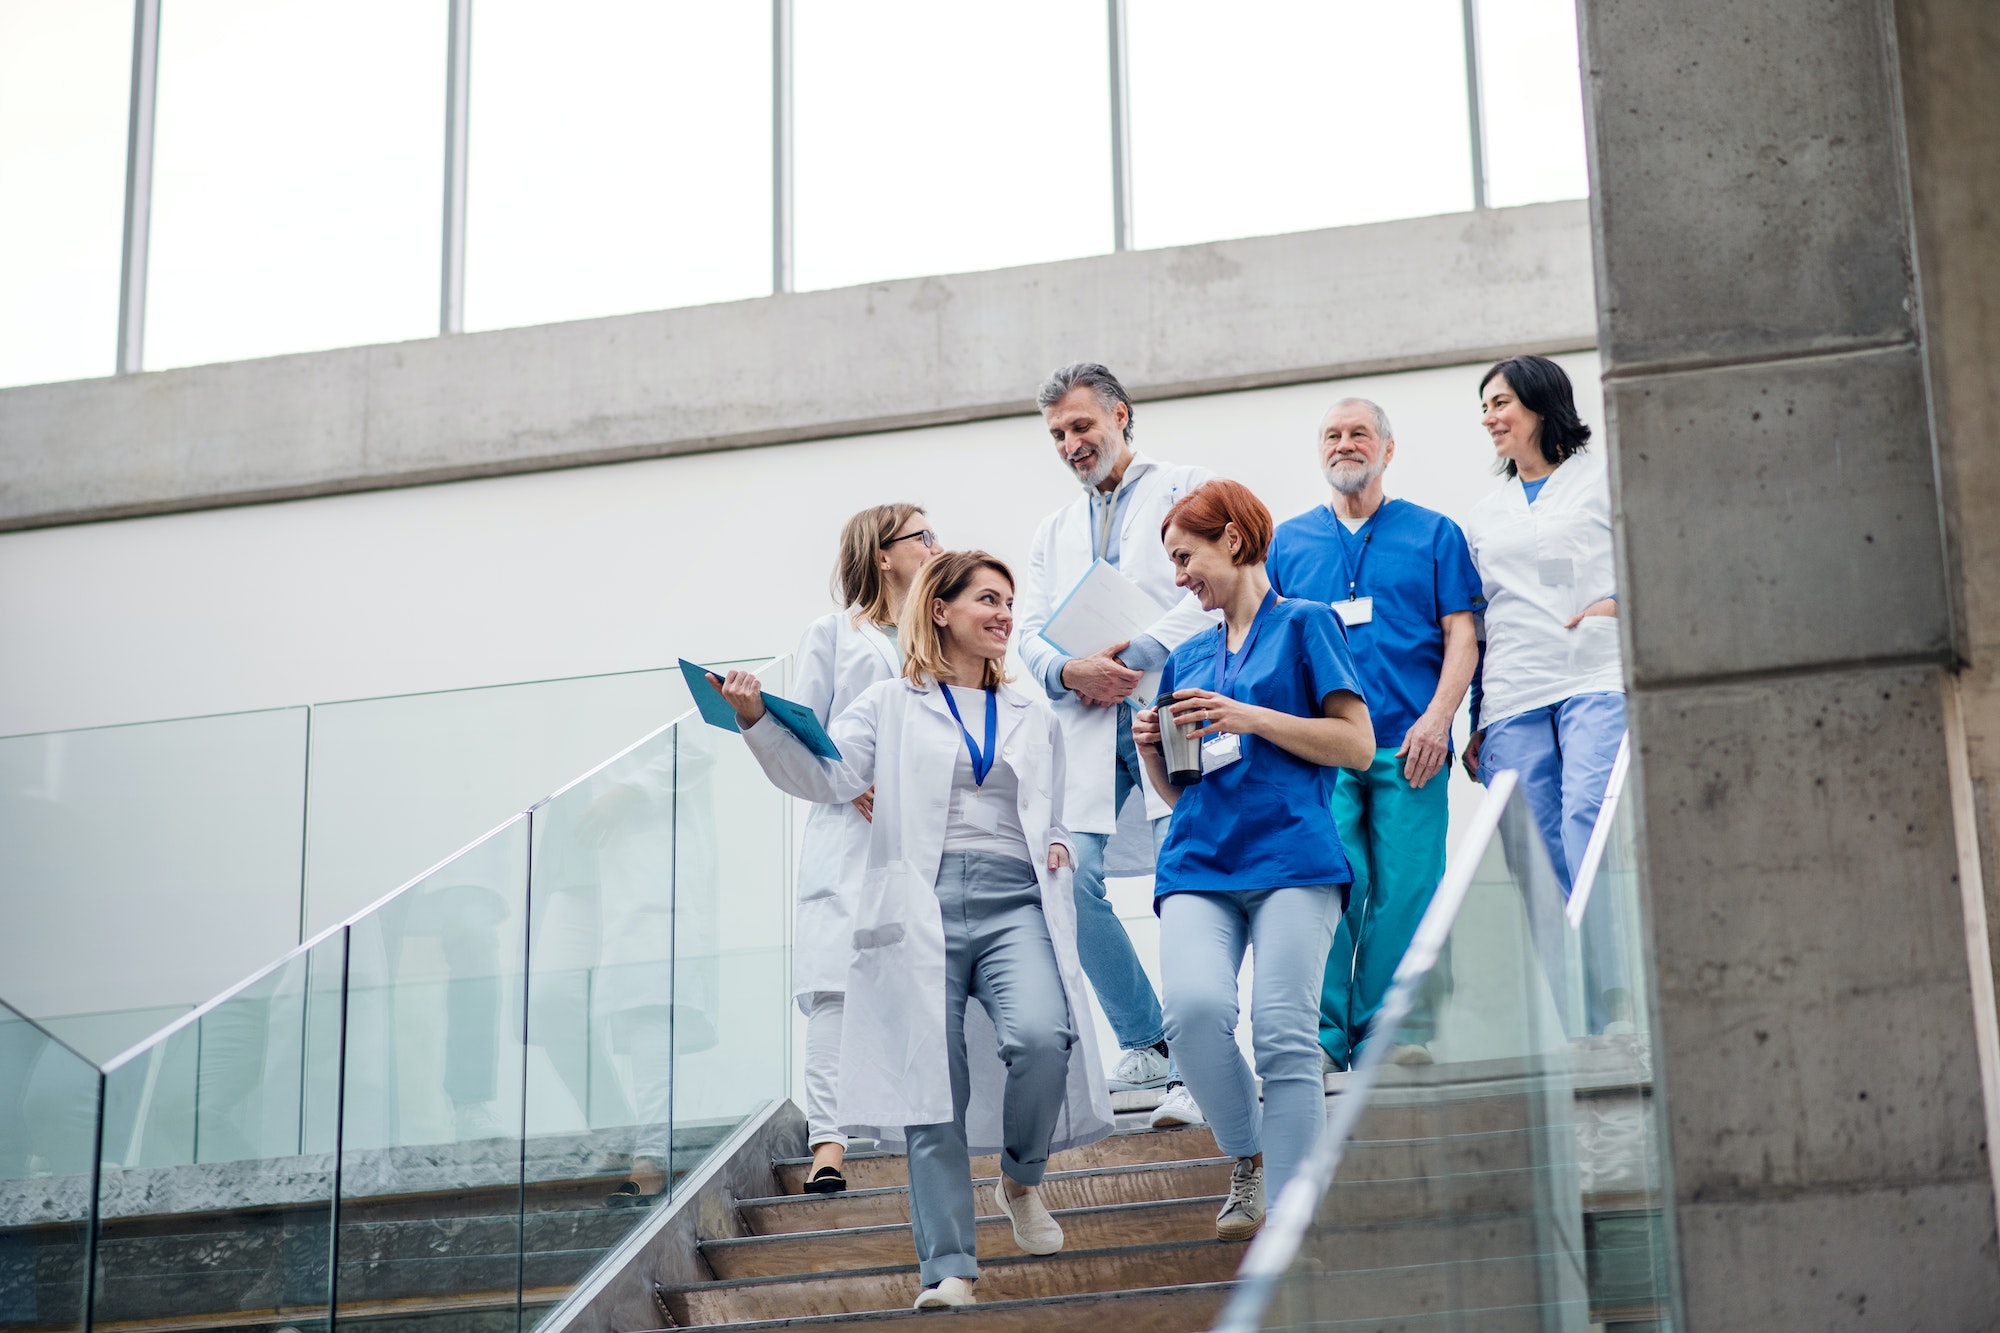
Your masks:
[[[1326,1121],[1320,1077],[1320,983],[1346,893],[1342,885],[1160,899],[1166,1041],[1180,1077],[1230,1157],[1264,1153],[1264,1199],[1276,1201]],[[1244,951],[1256,1079],[1236,1047],[1236,975]]]

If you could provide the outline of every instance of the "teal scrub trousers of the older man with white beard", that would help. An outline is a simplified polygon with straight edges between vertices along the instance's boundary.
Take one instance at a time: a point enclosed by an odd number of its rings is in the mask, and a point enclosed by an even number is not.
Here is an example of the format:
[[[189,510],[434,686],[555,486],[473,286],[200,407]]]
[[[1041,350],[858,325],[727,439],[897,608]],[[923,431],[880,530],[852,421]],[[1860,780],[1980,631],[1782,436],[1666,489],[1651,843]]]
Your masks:
[[[1444,879],[1444,831],[1450,821],[1452,769],[1410,787],[1394,749],[1376,751],[1366,773],[1342,769],[1334,781],[1334,823],[1348,853],[1354,887],[1334,931],[1320,987],[1320,1047],[1346,1069],[1382,1009],[1396,965],[1416,939],[1430,897]],[[1446,969],[1446,971],[1438,971]],[[1396,1041],[1436,1035],[1434,991],[1446,985],[1450,957],[1438,959]]]

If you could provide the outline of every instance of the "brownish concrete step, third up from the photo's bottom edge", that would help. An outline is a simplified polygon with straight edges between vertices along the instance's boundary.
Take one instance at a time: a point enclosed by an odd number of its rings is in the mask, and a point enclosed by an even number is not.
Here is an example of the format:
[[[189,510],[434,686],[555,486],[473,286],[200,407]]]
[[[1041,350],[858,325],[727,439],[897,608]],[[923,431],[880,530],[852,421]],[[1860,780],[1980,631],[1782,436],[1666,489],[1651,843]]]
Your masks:
[[[992,1207],[980,1191],[980,1211]],[[1056,1209],[1066,1249],[1116,1249],[1156,1241],[1200,1241],[1216,1235],[1222,1195],[1210,1199],[1162,1199],[1156,1203],[1114,1203],[1096,1209]],[[1014,1251],[1014,1227],[1004,1217],[980,1217],[982,1255]],[[916,1263],[916,1243],[908,1223],[850,1227],[846,1231],[806,1231],[760,1235],[738,1241],[704,1241],[702,1257],[716,1277],[782,1277],[788,1273],[838,1273]]]

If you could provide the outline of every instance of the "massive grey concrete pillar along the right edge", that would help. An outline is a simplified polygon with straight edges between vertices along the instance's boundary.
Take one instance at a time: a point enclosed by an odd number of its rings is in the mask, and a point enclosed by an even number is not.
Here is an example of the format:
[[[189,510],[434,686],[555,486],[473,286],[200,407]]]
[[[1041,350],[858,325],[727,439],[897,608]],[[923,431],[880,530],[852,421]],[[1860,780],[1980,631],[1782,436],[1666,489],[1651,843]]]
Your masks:
[[[1688,1327],[1992,1329],[1896,14],[1580,10]]]

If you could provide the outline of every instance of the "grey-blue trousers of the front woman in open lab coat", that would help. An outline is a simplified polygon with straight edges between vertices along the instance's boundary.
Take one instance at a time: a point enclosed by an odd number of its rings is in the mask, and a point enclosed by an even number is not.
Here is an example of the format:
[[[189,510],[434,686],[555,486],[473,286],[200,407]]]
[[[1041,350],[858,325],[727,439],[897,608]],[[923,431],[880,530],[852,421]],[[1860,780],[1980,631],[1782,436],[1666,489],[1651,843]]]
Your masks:
[[[944,1049],[952,1065],[952,1119],[908,1125],[910,1229],[926,1287],[980,1275],[974,1243],[972,1157],[966,1149],[966,997],[994,1021],[1006,1063],[1000,1169],[1040,1185],[1070,1069],[1070,1003],[1042,917],[1034,865],[988,853],[944,853]]]

